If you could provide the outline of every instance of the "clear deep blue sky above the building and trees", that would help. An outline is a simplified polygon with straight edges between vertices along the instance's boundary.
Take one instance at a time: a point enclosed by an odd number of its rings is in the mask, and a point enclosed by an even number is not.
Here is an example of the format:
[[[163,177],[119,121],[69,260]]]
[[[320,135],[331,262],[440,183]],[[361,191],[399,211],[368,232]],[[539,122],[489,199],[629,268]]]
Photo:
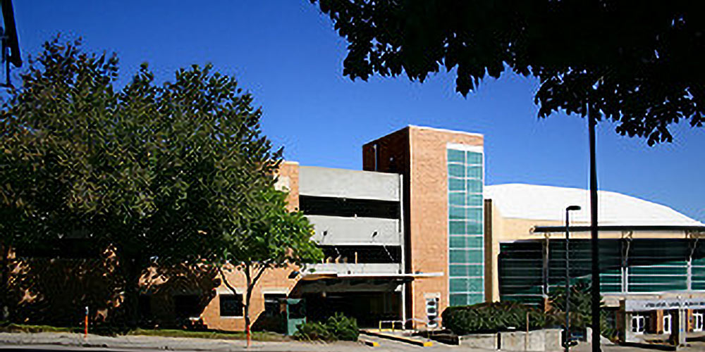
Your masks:
[[[505,73],[463,98],[454,77],[343,77],[345,41],[307,0],[15,1],[23,56],[57,33],[87,49],[116,52],[123,83],[142,62],[159,80],[213,63],[262,106],[264,132],[302,165],[360,169],[361,146],[405,125],[485,135],[486,183],[588,186],[586,122],[537,118],[532,78]],[[705,129],[673,127],[671,144],[649,147],[599,125],[600,188],[666,204],[705,222]]]

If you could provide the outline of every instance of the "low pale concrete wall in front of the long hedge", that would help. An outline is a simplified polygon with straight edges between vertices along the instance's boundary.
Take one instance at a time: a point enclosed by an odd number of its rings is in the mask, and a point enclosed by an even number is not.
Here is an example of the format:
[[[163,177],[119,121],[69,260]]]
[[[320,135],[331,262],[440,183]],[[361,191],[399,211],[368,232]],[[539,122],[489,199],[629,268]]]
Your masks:
[[[541,329],[498,334],[470,334],[459,338],[460,346],[503,351],[561,351],[560,329]]]

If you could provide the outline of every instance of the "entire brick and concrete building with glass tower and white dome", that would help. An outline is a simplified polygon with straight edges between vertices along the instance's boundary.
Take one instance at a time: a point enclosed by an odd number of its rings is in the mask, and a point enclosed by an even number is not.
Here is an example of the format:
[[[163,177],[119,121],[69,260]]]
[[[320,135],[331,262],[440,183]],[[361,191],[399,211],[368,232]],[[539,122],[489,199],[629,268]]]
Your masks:
[[[276,187],[288,191],[289,208],[312,223],[312,239],[325,258],[264,272],[251,298],[253,328],[281,325],[282,298],[303,298],[299,313],[309,319],[342,312],[362,327],[434,329],[446,307],[482,302],[545,308],[565,284],[564,216],[572,205],[582,210],[572,213],[570,226],[571,282],[589,282],[587,190],[486,186],[485,160],[482,134],[408,126],[364,144],[362,170],[283,163]],[[607,306],[634,298],[705,298],[704,224],[642,199],[606,191],[599,196]],[[224,271],[233,292],[217,275],[184,269],[166,284],[144,278],[142,314],[243,330],[242,272]],[[703,329],[705,312],[688,314],[689,329]],[[642,332],[668,326],[663,310],[632,318]]]

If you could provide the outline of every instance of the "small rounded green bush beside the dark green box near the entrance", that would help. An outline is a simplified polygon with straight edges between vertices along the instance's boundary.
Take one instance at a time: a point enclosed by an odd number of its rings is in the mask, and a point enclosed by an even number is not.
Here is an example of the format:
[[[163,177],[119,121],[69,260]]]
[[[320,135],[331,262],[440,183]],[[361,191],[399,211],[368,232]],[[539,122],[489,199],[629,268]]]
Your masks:
[[[326,322],[305,322],[298,326],[294,338],[298,340],[321,341],[357,341],[357,320],[336,313]]]

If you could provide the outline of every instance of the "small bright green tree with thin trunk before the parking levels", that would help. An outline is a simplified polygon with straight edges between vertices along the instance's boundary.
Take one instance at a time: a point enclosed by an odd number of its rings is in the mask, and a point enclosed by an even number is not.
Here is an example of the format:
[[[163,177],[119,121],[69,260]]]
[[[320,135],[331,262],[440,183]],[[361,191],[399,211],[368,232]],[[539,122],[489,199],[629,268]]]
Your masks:
[[[302,265],[320,260],[323,256],[311,237],[313,227],[302,212],[286,208],[286,193],[269,187],[262,191],[261,201],[252,202],[247,207],[246,220],[241,222],[221,253],[214,266],[220,271],[223,284],[233,294],[235,287],[228,282],[223,271],[239,270],[245,275],[245,332],[247,345],[250,344],[250,298],[252,290],[264,272],[272,268],[285,268],[288,265]],[[234,268],[233,268],[234,266]]]

